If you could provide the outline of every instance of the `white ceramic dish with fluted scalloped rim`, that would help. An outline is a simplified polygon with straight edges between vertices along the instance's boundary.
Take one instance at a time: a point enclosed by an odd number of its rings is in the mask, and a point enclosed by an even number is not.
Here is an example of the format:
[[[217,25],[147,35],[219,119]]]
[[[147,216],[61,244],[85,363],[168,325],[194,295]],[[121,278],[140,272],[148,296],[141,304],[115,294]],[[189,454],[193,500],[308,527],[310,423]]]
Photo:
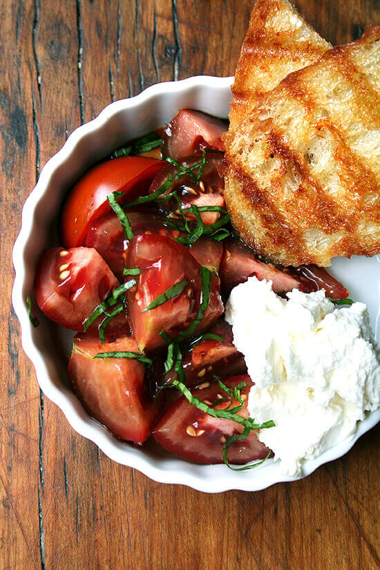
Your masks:
[[[126,140],[167,123],[179,108],[196,108],[227,117],[231,79],[202,76],[154,85],[136,97],[109,105],[96,119],[76,129],[64,147],[48,161],[37,186],[28,196],[13,250],[16,278],[12,302],[21,323],[23,349],[35,365],[44,394],[61,408],[77,433],[94,441],[115,462],[136,468],[155,481],[184,484],[207,493],[229,489],[258,491],[294,478],[281,474],[278,462],[272,459],[256,470],[239,473],[224,465],[198,466],[184,462],[158,450],[154,444],[137,448],[115,439],[87,415],[68,386],[66,366],[73,334],[40,315],[41,326],[33,328],[28,319],[26,298],[34,297],[37,261],[45,247],[54,245],[54,231],[51,230],[64,195],[73,182]],[[335,260],[332,273],[345,283],[353,298],[368,304],[379,341],[380,256]],[[304,475],[310,475],[321,464],[347,453],[379,420],[380,410],[369,414],[359,423],[352,439],[341,442],[318,459],[306,462]]]

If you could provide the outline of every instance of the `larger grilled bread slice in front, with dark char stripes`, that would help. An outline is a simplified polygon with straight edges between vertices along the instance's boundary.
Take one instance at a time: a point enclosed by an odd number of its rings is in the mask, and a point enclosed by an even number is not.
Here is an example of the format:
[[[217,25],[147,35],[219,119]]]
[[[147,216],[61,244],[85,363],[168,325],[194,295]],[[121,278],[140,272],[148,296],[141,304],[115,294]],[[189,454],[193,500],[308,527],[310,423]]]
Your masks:
[[[273,262],[380,253],[380,27],[258,98],[224,173],[234,226]]]

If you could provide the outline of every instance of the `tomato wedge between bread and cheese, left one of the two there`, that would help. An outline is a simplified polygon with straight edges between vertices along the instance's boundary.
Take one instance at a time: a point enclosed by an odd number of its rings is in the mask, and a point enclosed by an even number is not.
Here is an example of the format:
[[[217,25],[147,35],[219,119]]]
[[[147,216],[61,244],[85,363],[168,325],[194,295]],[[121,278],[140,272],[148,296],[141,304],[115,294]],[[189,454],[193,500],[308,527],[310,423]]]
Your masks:
[[[301,280],[296,275],[284,273],[272,263],[264,263],[238,239],[225,240],[225,252],[220,265],[220,280],[222,289],[229,293],[239,283],[247,281],[248,277],[273,282],[273,290],[277,294],[287,293],[301,287]]]

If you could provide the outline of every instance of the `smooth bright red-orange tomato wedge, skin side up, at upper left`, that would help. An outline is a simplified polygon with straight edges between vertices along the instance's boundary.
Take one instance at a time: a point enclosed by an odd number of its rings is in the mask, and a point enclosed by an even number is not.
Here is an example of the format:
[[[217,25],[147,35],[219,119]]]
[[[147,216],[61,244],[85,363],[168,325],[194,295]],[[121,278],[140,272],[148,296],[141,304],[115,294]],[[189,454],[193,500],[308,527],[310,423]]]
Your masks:
[[[70,191],[61,219],[61,234],[67,247],[84,245],[94,220],[110,211],[107,196],[124,191],[119,201],[148,193],[149,184],[164,162],[154,158],[127,156],[107,160],[88,171]]]

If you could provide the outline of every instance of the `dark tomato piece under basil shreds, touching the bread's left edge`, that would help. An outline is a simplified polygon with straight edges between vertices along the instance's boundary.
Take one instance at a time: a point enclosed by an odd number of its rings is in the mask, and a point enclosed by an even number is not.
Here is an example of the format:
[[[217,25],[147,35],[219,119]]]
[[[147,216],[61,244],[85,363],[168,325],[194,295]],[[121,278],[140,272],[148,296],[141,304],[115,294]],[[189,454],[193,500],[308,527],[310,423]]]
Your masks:
[[[195,164],[200,162],[200,155],[192,155],[184,160],[181,160],[181,164],[190,168]],[[196,221],[196,217],[191,211],[188,211],[191,205],[196,205],[198,207],[203,206],[218,206],[224,207],[225,199],[224,194],[224,180],[220,177],[217,171],[218,164],[222,160],[222,154],[213,153],[211,151],[206,153],[207,164],[205,165],[205,170],[203,171],[202,179],[200,182],[196,182],[191,178],[189,174],[184,174],[178,180],[176,180],[166,192],[162,194],[162,197],[167,196],[169,193],[176,191],[178,198],[182,202],[182,210],[187,218],[191,222]],[[166,182],[171,177],[174,177],[180,169],[175,167],[173,164],[167,164],[159,173],[155,176],[149,192],[153,193]],[[198,170],[193,171],[193,175],[196,177]],[[178,201],[175,198],[171,198],[167,202],[160,203],[160,209],[169,213],[170,218],[181,219],[179,211]],[[211,225],[218,221],[220,218],[220,213],[218,211],[204,211],[200,214],[202,222],[205,225]]]

